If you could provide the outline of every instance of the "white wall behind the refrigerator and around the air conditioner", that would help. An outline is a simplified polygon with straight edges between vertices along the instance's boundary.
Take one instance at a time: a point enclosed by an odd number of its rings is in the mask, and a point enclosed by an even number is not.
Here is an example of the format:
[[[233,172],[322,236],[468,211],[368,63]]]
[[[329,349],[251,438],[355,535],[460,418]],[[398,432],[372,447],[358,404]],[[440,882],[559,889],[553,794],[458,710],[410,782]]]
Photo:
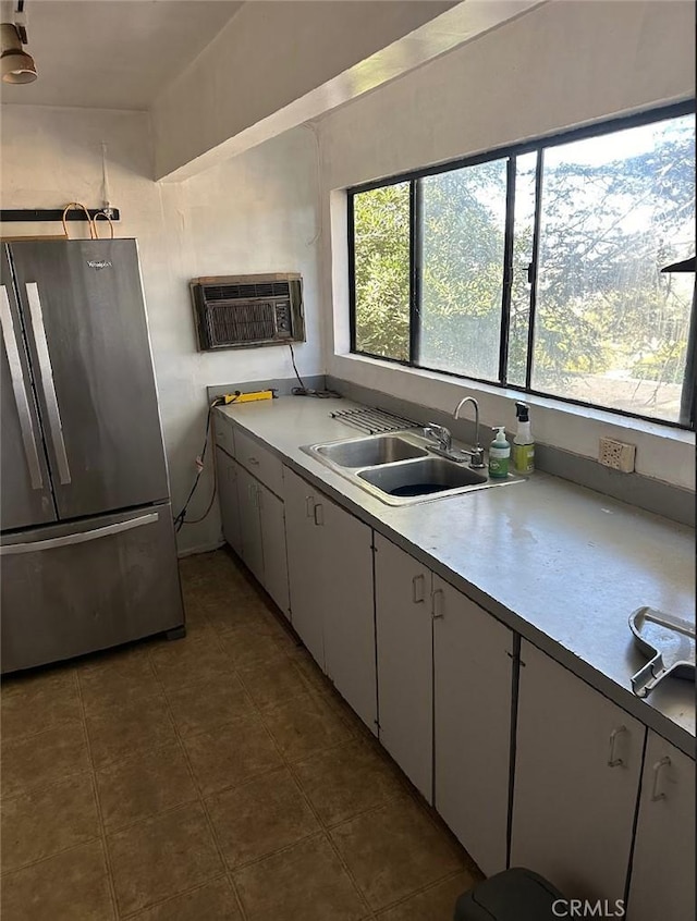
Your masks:
[[[307,342],[296,349],[301,373],[322,370],[317,247],[317,147],[297,128],[185,183],[151,180],[149,118],[139,112],[2,107],[2,207],[58,208],[102,204],[101,142],[108,145],[117,235],[138,240],[150,336],[174,505],[194,476],[205,425],[206,386],[291,377],[286,348],[196,352],[188,280],[200,274],[301,271]],[[71,223],[72,235],[82,224]],[[60,233],[52,224],[2,225],[0,233]],[[201,481],[192,517],[212,488]],[[180,550],[219,538],[217,507],[185,527]]]

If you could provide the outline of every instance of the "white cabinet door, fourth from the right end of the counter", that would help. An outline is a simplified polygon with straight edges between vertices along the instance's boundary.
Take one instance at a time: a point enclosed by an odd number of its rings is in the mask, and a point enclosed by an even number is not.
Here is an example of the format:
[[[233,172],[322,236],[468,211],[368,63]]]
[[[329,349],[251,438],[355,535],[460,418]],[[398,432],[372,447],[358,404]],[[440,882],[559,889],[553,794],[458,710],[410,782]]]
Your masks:
[[[375,536],[380,741],[432,801],[431,573]]]

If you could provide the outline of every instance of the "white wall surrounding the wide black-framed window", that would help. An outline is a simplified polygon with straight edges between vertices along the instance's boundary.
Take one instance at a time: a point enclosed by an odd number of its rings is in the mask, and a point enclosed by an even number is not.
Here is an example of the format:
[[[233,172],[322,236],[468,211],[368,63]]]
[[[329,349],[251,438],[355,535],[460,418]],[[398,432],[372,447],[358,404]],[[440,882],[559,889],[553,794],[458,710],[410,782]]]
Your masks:
[[[513,428],[514,393],[350,356],[346,186],[694,96],[687,2],[557,0],[332,112],[322,151],[327,371],[451,410],[478,391],[488,425]],[[637,445],[637,470],[694,488],[694,438],[530,398],[537,438],[596,457],[600,434]]]

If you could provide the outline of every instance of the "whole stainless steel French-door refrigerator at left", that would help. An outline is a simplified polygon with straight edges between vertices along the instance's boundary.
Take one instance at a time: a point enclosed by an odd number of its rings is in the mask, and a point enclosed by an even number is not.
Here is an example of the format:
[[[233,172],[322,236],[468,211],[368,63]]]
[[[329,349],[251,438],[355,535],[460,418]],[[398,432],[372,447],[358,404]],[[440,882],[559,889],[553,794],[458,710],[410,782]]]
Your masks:
[[[1,671],[181,636],[136,242],[1,258]]]

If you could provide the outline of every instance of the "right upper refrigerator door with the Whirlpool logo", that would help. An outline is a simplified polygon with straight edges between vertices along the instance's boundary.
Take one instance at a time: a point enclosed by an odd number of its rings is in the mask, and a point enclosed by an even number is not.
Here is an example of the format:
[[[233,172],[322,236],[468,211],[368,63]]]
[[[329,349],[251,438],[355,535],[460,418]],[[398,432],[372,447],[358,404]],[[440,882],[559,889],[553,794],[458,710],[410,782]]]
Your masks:
[[[169,498],[134,240],[10,245],[59,518]]]

